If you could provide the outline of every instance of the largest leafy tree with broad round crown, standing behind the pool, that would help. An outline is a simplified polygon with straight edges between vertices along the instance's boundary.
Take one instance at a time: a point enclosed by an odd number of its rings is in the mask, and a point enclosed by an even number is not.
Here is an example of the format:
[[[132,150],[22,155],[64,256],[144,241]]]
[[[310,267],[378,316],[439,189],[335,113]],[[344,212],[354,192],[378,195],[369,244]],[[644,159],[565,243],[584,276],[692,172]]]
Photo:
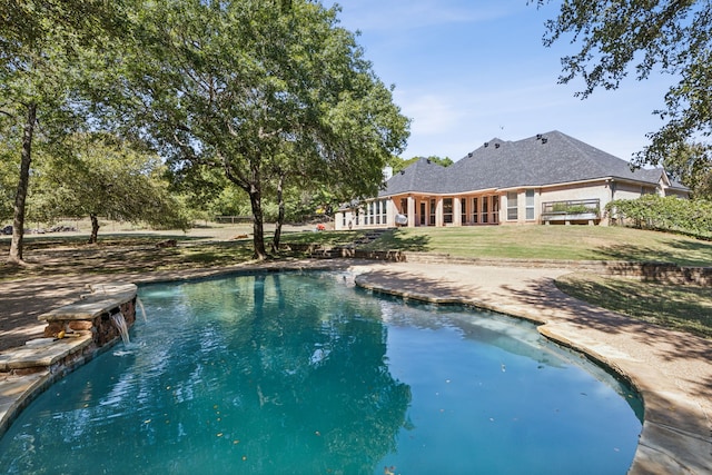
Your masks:
[[[374,191],[407,119],[335,9],[306,0],[154,2],[136,17],[127,97],[136,133],[182,174],[214,167],[250,200],[288,177]]]

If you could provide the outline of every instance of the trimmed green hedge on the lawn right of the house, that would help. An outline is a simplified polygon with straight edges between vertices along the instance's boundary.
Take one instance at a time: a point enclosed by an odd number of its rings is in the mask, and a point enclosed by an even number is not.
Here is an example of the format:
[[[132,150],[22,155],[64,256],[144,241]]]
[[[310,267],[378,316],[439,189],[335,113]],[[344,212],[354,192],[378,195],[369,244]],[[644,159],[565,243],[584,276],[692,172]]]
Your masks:
[[[712,201],[645,195],[637,199],[617,199],[606,205],[616,221],[641,229],[657,229],[712,238]]]

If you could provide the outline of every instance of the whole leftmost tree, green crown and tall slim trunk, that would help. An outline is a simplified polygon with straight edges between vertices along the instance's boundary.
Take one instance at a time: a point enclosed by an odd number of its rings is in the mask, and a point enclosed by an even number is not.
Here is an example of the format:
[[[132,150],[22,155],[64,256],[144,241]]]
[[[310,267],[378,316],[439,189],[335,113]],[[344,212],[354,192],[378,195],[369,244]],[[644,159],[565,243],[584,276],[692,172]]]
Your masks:
[[[78,78],[83,53],[106,31],[120,31],[120,1],[1,0],[0,115],[8,130],[21,137],[19,178],[14,194],[13,229],[8,263],[22,263],[26,200],[33,146],[41,133],[51,144],[82,123]],[[91,76],[91,75],[89,75]]]

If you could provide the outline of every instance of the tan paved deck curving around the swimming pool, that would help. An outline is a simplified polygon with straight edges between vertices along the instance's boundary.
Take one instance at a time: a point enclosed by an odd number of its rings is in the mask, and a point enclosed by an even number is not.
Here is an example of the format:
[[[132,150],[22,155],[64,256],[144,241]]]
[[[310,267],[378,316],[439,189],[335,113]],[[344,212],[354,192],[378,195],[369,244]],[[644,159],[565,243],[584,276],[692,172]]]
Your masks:
[[[689,334],[636,321],[590,306],[561,293],[554,279],[565,267],[442,265],[419,263],[355,261],[349,259],[268,263],[226,269],[107,276],[107,281],[135,284],[189,279],[240,270],[338,268],[356,275],[357,285],[437,304],[462,303],[542,325],[546,337],[578,349],[627,378],[645,405],[643,431],[631,474],[712,473],[712,342]],[[32,279],[0,283],[0,319],[8,308],[23,306],[22,315],[66,305],[86,293],[87,284],[101,276]],[[91,281],[89,281],[91,279]],[[10,305],[12,304],[13,305]],[[7,304],[7,305],[6,305]],[[8,318],[21,320],[14,311]],[[24,318],[27,324],[27,318]],[[33,335],[42,325],[21,326]],[[17,331],[0,331],[0,339]],[[13,348],[0,355],[9,359]],[[11,422],[38,388],[51,384],[49,372],[27,376],[0,376],[0,420]],[[2,427],[0,427],[0,433]]]

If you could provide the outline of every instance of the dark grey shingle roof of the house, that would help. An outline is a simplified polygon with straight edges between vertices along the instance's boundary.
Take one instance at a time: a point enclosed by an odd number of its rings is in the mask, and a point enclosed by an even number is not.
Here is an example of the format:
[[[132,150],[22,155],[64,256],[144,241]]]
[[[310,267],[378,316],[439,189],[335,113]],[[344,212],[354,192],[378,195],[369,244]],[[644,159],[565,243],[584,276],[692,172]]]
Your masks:
[[[627,161],[554,130],[517,141],[494,138],[446,168],[421,159],[394,175],[379,196],[540,187],[609,177],[656,185],[663,172],[662,168],[631,170]]]

